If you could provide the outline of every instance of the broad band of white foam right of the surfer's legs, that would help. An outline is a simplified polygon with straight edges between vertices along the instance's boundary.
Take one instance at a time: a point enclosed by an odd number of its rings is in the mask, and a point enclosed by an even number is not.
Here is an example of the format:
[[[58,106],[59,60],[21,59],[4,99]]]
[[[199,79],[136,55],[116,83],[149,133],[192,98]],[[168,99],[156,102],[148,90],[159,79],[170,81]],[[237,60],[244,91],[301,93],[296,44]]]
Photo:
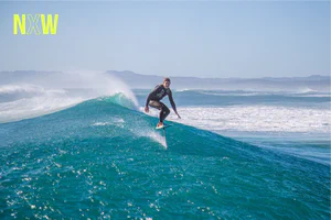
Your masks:
[[[179,108],[182,120],[168,120],[212,131],[330,133],[331,110],[276,106]]]

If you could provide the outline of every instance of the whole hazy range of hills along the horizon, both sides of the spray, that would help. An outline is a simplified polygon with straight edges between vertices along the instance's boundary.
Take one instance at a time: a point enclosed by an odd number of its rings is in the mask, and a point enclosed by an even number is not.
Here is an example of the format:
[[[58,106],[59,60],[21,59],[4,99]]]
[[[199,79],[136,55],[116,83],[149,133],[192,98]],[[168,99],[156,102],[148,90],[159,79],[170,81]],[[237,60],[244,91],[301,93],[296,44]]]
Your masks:
[[[100,73],[98,73],[100,74]],[[132,89],[152,89],[162,84],[164,76],[142,75],[134,72],[107,70],[105,73],[125,81]],[[93,75],[93,73],[92,73]],[[56,88],[82,88],[73,82],[79,75],[66,72],[15,70],[0,72],[1,85],[43,85]],[[96,75],[97,77],[97,75]],[[199,78],[170,77],[172,89],[216,89],[216,90],[258,90],[293,92],[330,92],[330,76],[312,75],[308,77],[264,77],[264,78]],[[56,84],[54,81],[57,81]],[[86,84],[84,84],[86,86]],[[84,86],[83,85],[83,86]],[[87,84],[88,85],[88,84]],[[84,87],[85,88],[85,87]]]

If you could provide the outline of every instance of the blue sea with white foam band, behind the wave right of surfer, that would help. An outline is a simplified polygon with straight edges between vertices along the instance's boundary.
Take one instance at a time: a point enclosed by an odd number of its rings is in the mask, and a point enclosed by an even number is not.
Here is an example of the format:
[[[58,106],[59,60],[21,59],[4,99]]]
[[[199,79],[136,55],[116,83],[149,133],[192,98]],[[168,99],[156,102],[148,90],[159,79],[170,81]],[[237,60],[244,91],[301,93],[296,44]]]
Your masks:
[[[143,106],[148,90],[136,94]],[[170,114],[171,121],[331,164],[330,92],[180,90],[174,96],[184,117]],[[171,108],[167,98],[164,103]]]

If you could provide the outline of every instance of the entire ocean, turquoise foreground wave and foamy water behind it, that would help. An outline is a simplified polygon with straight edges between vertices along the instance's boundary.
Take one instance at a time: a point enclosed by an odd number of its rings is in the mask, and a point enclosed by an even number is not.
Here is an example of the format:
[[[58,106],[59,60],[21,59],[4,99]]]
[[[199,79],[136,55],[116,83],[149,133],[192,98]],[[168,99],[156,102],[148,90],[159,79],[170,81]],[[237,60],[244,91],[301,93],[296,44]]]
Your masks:
[[[330,219],[330,94],[148,92],[1,87],[0,219]]]

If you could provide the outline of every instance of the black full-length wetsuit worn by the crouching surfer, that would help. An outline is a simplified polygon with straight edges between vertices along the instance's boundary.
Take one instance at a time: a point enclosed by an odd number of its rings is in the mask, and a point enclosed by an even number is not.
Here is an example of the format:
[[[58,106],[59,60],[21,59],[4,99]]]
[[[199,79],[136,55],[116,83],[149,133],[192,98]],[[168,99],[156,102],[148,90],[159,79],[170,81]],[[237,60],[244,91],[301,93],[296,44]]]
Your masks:
[[[168,107],[161,102],[160,100],[163,99],[164,96],[169,97],[171,107],[174,111],[175,110],[175,105],[174,101],[172,99],[172,92],[170,90],[170,88],[166,89],[164,86],[158,85],[147,97],[147,101],[146,101],[146,106],[150,106],[153,107],[156,109],[161,110],[160,111],[160,122],[163,122],[163,120],[168,117],[168,114],[170,113],[170,110],[168,109]]]

